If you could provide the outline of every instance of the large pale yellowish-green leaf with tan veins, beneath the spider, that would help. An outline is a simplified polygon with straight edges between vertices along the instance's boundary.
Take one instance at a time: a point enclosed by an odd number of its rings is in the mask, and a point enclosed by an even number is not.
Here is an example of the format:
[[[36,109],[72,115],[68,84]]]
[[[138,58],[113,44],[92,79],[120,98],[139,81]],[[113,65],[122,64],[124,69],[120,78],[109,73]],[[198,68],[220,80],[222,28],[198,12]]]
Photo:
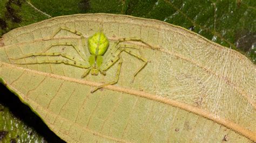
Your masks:
[[[42,52],[57,42],[77,44],[80,38],[60,26],[80,31],[87,39],[100,27],[110,40],[137,37],[149,63],[131,83],[142,65],[122,53],[119,81],[117,64],[106,76],[80,78],[85,69],[63,64],[19,66],[10,59]],[[214,44],[196,33],[157,20],[122,15],[73,15],[17,28],[0,41],[2,82],[41,117],[60,138],[85,141],[256,141],[255,66],[244,55]],[[51,51],[80,58],[69,46]],[[19,60],[61,59],[41,56]],[[81,59],[81,58],[80,58]]]

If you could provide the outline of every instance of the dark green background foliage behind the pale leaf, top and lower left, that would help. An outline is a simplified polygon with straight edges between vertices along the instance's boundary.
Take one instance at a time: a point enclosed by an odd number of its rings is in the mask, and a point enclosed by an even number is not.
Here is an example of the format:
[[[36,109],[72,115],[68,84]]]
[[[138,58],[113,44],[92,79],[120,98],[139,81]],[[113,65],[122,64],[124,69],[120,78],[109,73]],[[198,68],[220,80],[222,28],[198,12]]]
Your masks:
[[[152,18],[179,25],[235,49],[256,63],[254,0],[1,0],[0,36],[51,17],[98,12]],[[0,90],[0,141],[62,141],[3,85]]]

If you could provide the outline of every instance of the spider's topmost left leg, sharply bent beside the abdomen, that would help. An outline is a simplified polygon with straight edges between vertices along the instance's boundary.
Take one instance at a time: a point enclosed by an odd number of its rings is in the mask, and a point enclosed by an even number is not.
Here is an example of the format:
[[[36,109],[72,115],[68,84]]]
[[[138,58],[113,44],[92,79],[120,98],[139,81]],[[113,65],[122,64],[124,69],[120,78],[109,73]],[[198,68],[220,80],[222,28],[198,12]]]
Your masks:
[[[86,51],[86,39],[85,39],[84,35],[81,32],[77,31],[77,30],[72,30],[72,29],[70,29],[68,27],[64,27],[64,26],[63,27],[59,27],[58,30],[56,30],[52,34],[51,38],[55,37],[55,35],[58,34],[59,31],[61,31],[61,30],[66,30],[66,31],[69,31],[69,32],[71,32],[73,34],[78,35],[81,38],[81,40],[82,40],[82,46],[84,48],[84,51]],[[85,54],[86,54],[86,52],[85,52]],[[89,56],[90,56],[89,54],[86,54],[86,57],[89,57]]]

